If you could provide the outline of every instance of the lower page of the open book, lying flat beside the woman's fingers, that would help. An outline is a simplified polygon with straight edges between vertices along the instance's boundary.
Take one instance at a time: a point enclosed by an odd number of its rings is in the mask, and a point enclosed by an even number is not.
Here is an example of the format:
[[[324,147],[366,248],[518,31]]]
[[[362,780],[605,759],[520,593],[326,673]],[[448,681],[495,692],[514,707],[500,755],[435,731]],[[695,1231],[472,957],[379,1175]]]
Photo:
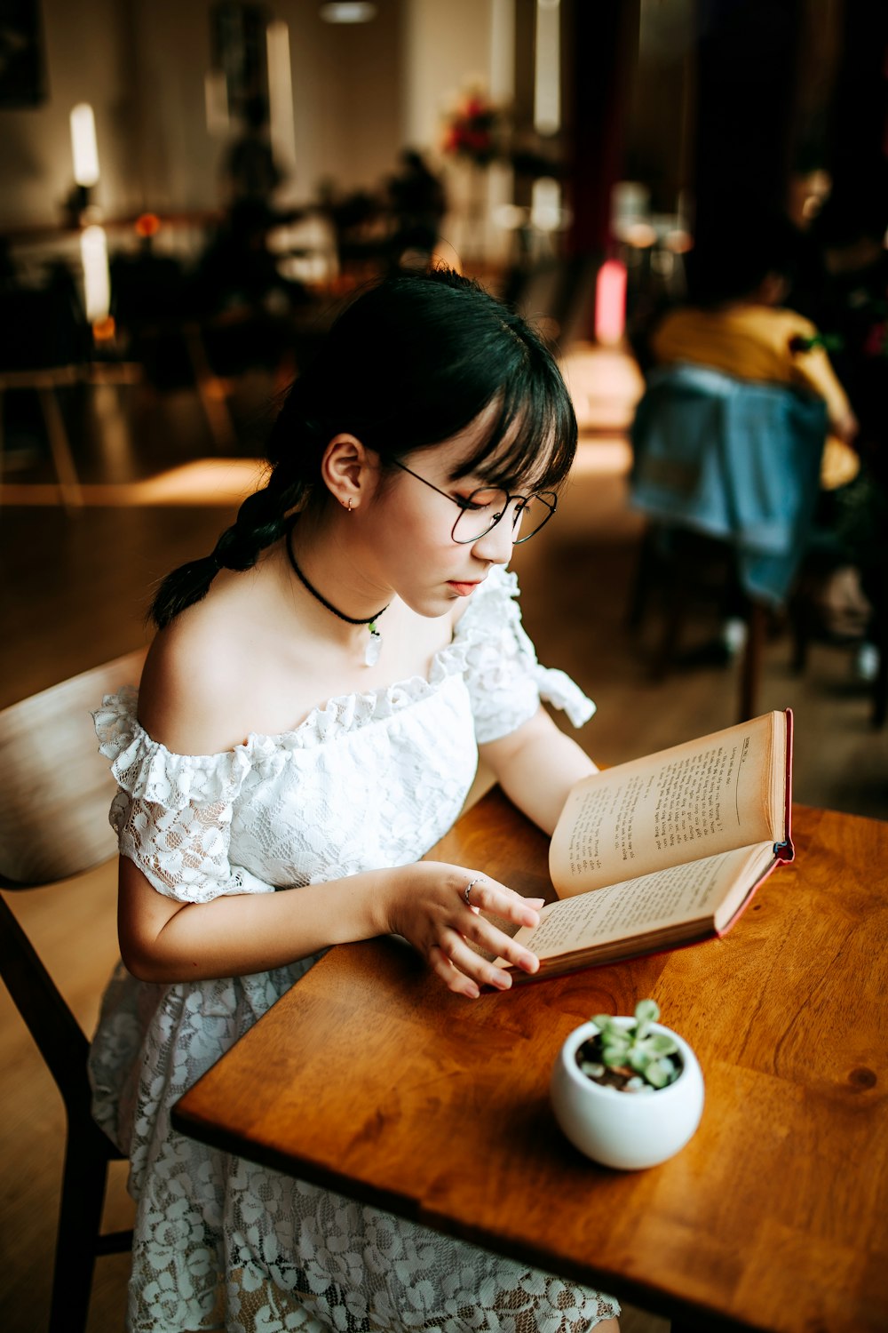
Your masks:
[[[541,961],[614,940],[627,941],[630,954],[631,941],[664,926],[727,922],[772,861],[774,846],[763,842],[562,898],[515,938]]]

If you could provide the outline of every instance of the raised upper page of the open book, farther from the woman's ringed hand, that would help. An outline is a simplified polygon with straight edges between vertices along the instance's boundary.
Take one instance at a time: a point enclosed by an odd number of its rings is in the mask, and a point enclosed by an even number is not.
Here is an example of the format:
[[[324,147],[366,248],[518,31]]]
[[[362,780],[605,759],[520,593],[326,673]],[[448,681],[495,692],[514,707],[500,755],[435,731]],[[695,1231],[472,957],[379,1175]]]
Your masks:
[[[550,846],[559,897],[781,841],[784,768],[785,716],[774,712],[582,778]]]

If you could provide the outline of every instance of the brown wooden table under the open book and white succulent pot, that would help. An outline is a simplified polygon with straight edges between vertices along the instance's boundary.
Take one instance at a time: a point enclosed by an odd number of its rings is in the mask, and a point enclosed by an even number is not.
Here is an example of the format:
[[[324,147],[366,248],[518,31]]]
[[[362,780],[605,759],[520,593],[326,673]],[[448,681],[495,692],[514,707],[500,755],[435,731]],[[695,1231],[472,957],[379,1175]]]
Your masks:
[[[796,861],[720,941],[450,996],[394,940],[333,949],[177,1105],[178,1129],[700,1329],[888,1329],[888,824],[795,809]],[[437,853],[551,896],[501,792]],[[695,1048],[691,1142],[638,1173],[560,1134],[549,1076],[652,996]]]

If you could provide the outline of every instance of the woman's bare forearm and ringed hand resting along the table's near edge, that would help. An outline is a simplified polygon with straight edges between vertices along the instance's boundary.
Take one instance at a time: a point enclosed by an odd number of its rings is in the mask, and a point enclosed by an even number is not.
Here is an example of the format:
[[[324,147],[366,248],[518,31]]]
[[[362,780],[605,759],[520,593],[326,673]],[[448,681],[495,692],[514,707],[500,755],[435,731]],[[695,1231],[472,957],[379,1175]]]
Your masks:
[[[523,898],[487,876],[458,865],[419,861],[365,870],[278,893],[225,894],[178,902],[158,893],[128,857],[120,858],[117,928],[124,962],[142,981],[172,982],[246,976],[309,957],[333,944],[402,934],[449,989],[477,997],[479,986],[507,989],[509,973],[470,948],[526,972],[538,961],[478,913],[537,925],[542,900]]]

